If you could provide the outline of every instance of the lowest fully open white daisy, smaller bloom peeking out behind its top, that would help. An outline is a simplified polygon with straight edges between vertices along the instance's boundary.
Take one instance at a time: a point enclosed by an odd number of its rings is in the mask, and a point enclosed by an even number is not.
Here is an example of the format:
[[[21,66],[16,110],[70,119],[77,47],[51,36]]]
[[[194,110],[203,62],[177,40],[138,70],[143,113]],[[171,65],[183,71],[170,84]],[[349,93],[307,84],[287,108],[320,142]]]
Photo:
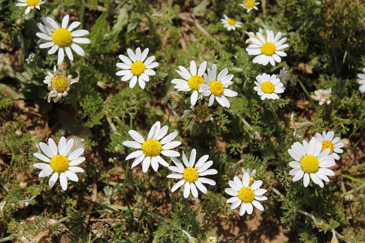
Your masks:
[[[231,203],[231,209],[237,208],[241,205],[239,209],[239,215],[242,216],[247,211],[247,214],[251,214],[253,211],[252,205],[261,211],[264,211],[261,203],[258,201],[268,200],[267,197],[262,196],[266,189],[260,189],[262,181],[256,181],[250,186],[250,175],[245,173],[242,177],[242,181],[235,176],[233,181],[228,181],[228,185],[231,188],[226,188],[224,191],[233,196],[227,200],[227,203]],[[258,200],[258,201],[255,201]]]

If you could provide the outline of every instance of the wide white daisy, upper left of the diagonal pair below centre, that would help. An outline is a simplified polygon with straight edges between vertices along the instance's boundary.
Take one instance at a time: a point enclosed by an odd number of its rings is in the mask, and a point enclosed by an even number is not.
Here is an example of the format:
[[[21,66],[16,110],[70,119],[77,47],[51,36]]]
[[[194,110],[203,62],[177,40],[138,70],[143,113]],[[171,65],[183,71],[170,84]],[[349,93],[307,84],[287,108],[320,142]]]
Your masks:
[[[144,173],[147,172],[150,164],[152,165],[153,170],[157,171],[158,163],[163,166],[169,166],[169,164],[163,158],[161,158],[160,154],[168,157],[180,156],[179,152],[170,150],[181,144],[180,141],[172,141],[177,136],[177,132],[172,132],[165,136],[167,130],[169,129],[168,126],[163,126],[161,129],[160,128],[160,121],[157,121],[155,124],[153,124],[147,136],[147,140],[145,140],[141,134],[134,130],[128,131],[129,135],[131,135],[132,139],[135,141],[124,141],[122,144],[126,147],[141,149],[134,151],[126,157],[126,160],[135,158],[131,169],[143,161],[142,171]],[[160,139],[162,140],[158,141]]]

